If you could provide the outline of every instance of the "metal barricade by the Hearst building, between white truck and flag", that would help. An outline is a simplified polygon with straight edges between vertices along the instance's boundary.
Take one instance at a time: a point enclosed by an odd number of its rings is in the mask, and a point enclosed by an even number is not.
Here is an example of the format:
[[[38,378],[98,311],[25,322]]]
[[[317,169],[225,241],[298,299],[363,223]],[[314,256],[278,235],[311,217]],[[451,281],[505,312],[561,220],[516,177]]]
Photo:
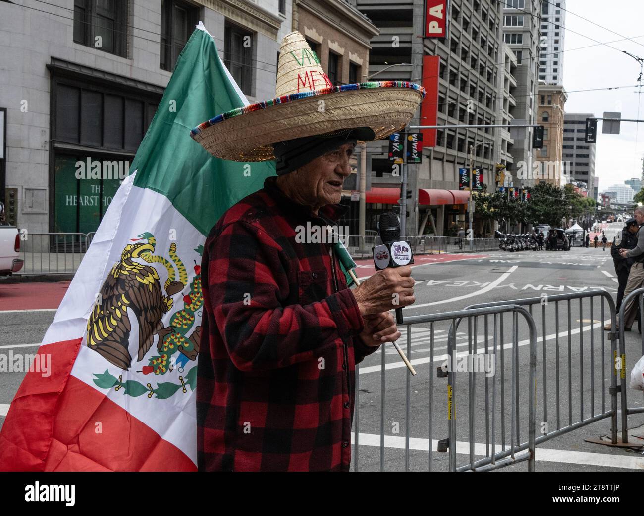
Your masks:
[[[24,260],[20,274],[76,272],[90,242],[91,238],[84,233],[28,232],[20,243],[20,252]]]

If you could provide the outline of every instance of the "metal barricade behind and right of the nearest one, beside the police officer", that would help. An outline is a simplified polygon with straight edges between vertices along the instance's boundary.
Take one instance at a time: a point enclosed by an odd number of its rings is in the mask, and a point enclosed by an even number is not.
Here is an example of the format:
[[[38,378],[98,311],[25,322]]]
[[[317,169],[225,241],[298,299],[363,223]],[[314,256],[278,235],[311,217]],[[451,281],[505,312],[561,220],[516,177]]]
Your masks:
[[[640,289],[641,293],[644,293],[644,288]],[[595,315],[595,307],[594,307],[594,300],[599,297],[601,299],[601,309],[600,309],[600,321],[595,322],[594,320],[594,315]],[[584,318],[583,315],[583,300],[588,299],[589,304],[590,304],[590,320],[587,320]],[[579,326],[578,329],[575,328],[573,329],[573,324],[571,320],[571,315],[573,313],[573,308],[572,308],[572,302],[573,300],[579,300],[579,311],[578,311],[578,322]],[[626,301],[626,300],[625,300]],[[611,331],[608,333],[608,339],[609,342],[611,343],[611,349],[610,349],[610,355],[607,356],[606,349],[605,349],[605,332],[603,331],[603,326],[605,323],[605,302],[608,305],[608,314],[609,315],[609,321],[611,322]],[[561,304],[565,304],[567,308],[567,326],[566,330],[560,332],[559,331],[559,324],[560,324],[560,317],[559,317],[559,306]],[[611,295],[607,293],[606,291],[603,290],[591,290],[587,292],[574,292],[574,293],[566,293],[566,294],[555,294],[555,295],[547,295],[547,296],[541,296],[541,297],[532,297],[529,299],[515,299],[515,300],[509,300],[509,301],[499,301],[499,302],[491,302],[491,303],[482,303],[482,304],[475,304],[472,306],[469,306],[466,308],[468,309],[480,309],[480,308],[492,308],[495,306],[504,306],[506,304],[513,304],[513,305],[518,305],[518,306],[527,306],[529,308],[529,313],[533,317],[536,317],[536,314],[533,311],[533,307],[535,306],[540,306],[540,312],[541,312],[541,322],[542,322],[542,336],[538,338],[537,340],[542,343],[542,364],[541,367],[543,369],[542,371],[542,376],[541,376],[541,385],[540,389],[542,389],[542,398],[543,398],[543,405],[542,405],[542,421],[540,425],[542,428],[540,428],[540,435],[538,438],[536,438],[536,444],[543,443],[544,441],[548,441],[549,439],[553,439],[557,436],[560,436],[562,434],[566,434],[567,432],[571,432],[573,430],[576,430],[576,428],[581,428],[585,427],[587,425],[591,425],[592,423],[596,423],[596,421],[600,421],[601,419],[606,419],[606,418],[611,418],[611,443],[616,444],[617,443],[617,393],[621,391],[622,393],[622,407],[625,407],[625,380],[624,380],[624,374],[623,374],[623,367],[621,369],[621,388],[618,389],[617,387],[617,374],[618,371],[616,369],[616,362],[614,359],[616,358],[616,352],[617,352],[617,331],[616,331],[616,310],[615,310],[615,304],[614,301],[612,300]],[[548,367],[547,367],[547,358],[551,355],[549,355],[547,351],[547,344],[546,340],[553,340],[551,337],[548,336],[546,333],[546,320],[547,318],[550,318],[551,320],[553,319],[551,317],[551,314],[548,313],[548,310],[554,306],[554,327],[555,327],[555,333],[554,333],[554,358],[555,358],[555,371],[554,371],[554,379],[551,378],[548,374]],[[624,303],[622,304],[624,306]],[[552,310],[550,310],[552,311]],[[584,327],[584,324],[589,323],[589,327]],[[584,343],[583,343],[583,333],[585,329],[589,329],[590,331],[590,346],[586,347],[584,349]],[[594,339],[594,330],[599,329],[601,331],[601,347],[600,349],[596,349],[595,347],[595,339]],[[572,336],[578,335],[578,344],[574,344],[574,346],[578,346],[575,349],[579,350],[579,362],[578,364],[574,365],[574,371],[575,373],[578,371],[579,373],[579,382],[577,383],[578,389],[573,389],[573,362],[572,362],[572,351],[573,351],[573,338]],[[566,340],[567,337],[567,349],[564,349],[564,351],[567,351],[567,361],[565,362],[567,364],[567,400],[562,397],[562,392],[561,392],[561,376],[562,376],[562,371],[561,371],[561,363],[562,363],[562,357],[560,356],[560,336],[562,337],[562,340]],[[621,353],[623,355],[623,338],[620,339],[620,349],[622,350]],[[586,354],[584,354],[584,351]],[[600,363],[600,369],[601,369],[601,383],[596,383],[595,376],[598,376],[598,367],[596,367],[596,362]],[[622,360],[624,362],[624,360]],[[587,400],[587,398],[584,398],[584,368],[587,370],[590,370],[589,376],[590,376],[590,394],[591,394],[591,399],[590,401]],[[605,382],[607,381],[607,374],[611,376],[611,386],[609,389],[605,389],[604,385]],[[597,378],[599,380],[599,378]],[[556,421],[556,428],[554,431],[551,431],[549,429],[549,417],[548,417],[548,392],[549,388],[554,388],[555,391],[555,407],[554,407],[554,421]],[[607,410],[606,408],[606,394],[608,390],[608,394],[611,398],[611,408]],[[599,401],[596,400],[596,396],[601,395],[601,410],[599,410]],[[567,403],[566,403],[567,401]],[[596,403],[597,401],[597,403]],[[576,404],[578,403],[578,410],[579,410],[579,417],[576,417]],[[564,418],[562,418],[562,409],[567,409],[567,416],[568,416],[568,421],[567,424],[565,421],[562,421],[562,419],[565,418],[565,414],[563,414]],[[573,416],[573,410],[575,412],[575,416]],[[638,412],[644,412],[644,409],[638,410]],[[587,414],[590,413],[590,416],[587,416]],[[625,412],[622,412],[622,425],[625,427]],[[550,421],[551,422],[551,421]],[[545,423],[545,426],[544,426]],[[624,434],[625,435],[625,434]]]

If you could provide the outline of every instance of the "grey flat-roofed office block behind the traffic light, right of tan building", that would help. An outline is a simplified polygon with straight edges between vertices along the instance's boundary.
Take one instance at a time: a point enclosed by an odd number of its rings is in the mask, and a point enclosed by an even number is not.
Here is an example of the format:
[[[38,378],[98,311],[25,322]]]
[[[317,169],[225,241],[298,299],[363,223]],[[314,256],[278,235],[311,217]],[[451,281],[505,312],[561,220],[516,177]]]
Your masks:
[[[588,196],[595,199],[595,147],[596,143],[585,143],[586,118],[593,113],[566,113],[564,116],[564,151],[562,160],[569,164],[571,178],[583,181],[588,187]]]

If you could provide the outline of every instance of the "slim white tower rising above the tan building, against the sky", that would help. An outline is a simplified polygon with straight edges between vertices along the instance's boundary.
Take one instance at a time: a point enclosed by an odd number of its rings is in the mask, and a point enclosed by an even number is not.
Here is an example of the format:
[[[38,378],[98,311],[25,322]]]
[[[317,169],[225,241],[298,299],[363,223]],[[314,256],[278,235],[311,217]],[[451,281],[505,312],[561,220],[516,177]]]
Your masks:
[[[546,84],[563,84],[565,0],[543,0],[539,80]]]

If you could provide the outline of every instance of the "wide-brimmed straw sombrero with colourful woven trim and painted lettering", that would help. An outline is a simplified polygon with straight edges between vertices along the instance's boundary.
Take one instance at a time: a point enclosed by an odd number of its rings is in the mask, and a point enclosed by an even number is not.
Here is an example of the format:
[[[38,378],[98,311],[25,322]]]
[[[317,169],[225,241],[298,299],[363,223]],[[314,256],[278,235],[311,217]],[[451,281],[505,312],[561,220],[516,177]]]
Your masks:
[[[370,127],[380,140],[409,123],[425,89],[396,80],[332,86],[295,31],[279,50],[276,95],[206,120],[191,136],[213,156],[232,161],[274,160],[274,143],[352,127]]]

